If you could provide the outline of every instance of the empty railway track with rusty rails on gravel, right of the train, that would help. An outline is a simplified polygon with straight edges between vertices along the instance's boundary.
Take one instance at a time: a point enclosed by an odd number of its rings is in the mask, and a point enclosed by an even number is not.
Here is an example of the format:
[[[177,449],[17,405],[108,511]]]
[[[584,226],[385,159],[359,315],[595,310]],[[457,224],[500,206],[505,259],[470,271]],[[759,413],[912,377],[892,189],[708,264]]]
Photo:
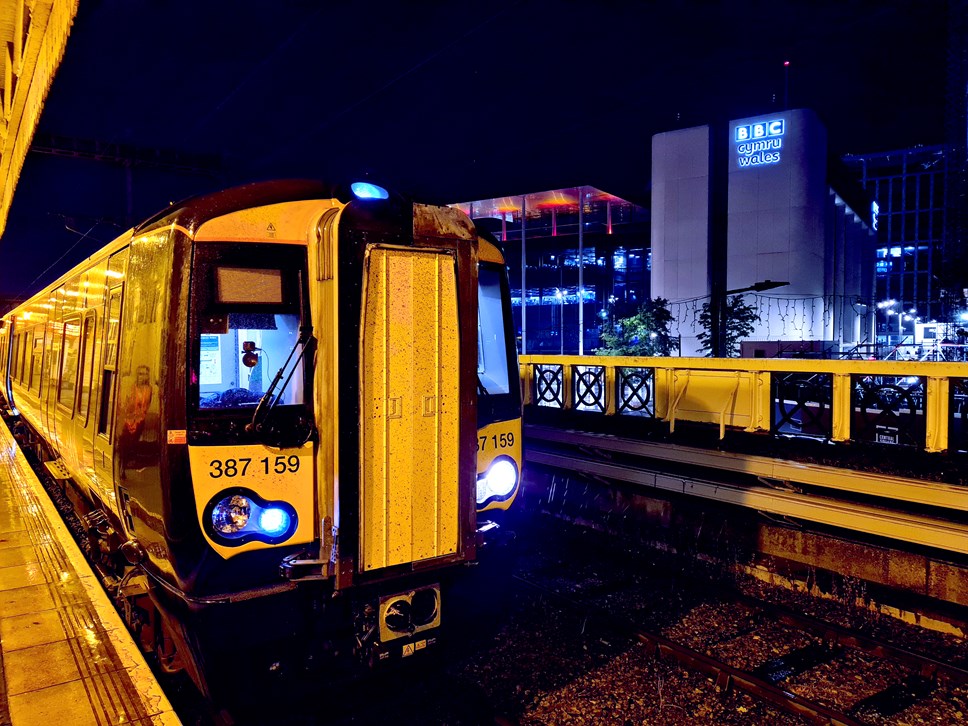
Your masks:
[[[957,647],[936,657],[874,635],[863,621],[848,627],[666,572],[676,580],[670,584],[631,555],[563,557],[560,544],[545,541],[558,552],[535,556],[519,572],[520,586],[586,624],[639,641],[651,657],[705,674],[721,695],[748,694],[805,723],[964,718],[968,669],[952,662]]]

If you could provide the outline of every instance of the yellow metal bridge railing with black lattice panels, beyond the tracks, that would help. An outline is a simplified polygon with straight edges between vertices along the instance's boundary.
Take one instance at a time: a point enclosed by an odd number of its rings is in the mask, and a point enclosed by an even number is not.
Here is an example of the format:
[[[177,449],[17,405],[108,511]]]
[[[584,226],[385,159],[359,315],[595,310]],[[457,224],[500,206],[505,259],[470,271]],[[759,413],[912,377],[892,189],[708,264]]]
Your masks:
[[[968,363],[522,356],[525,404],[832,441],[968,446]],[[965,406],[964,418],[961,407]],[[949,442],[955,429],[956,440]]]

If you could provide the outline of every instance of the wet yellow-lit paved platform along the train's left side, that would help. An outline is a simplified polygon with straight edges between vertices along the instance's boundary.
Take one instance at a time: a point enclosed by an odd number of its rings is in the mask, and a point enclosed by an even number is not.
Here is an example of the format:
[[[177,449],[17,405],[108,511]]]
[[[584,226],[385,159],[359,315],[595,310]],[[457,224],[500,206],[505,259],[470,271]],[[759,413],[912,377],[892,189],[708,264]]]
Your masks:
[[[0,725],[181,721],[0,425]]]

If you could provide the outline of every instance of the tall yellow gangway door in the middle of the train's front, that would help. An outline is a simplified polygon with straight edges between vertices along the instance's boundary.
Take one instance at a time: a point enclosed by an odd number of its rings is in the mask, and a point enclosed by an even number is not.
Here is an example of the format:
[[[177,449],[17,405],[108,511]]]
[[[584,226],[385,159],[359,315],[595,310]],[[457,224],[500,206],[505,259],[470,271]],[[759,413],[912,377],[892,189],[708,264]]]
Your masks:
[[[459,560],[454,250],[368,250],[360,363],[359,571]]]

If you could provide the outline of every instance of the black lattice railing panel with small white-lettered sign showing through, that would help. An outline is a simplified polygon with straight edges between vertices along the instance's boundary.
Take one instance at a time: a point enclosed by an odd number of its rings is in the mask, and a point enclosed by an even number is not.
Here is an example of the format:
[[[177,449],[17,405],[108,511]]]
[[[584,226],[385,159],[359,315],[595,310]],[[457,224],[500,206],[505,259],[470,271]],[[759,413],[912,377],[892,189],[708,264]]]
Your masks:
[[[925,445],[925,379],[851,376],[851,438],[876,444]]]

